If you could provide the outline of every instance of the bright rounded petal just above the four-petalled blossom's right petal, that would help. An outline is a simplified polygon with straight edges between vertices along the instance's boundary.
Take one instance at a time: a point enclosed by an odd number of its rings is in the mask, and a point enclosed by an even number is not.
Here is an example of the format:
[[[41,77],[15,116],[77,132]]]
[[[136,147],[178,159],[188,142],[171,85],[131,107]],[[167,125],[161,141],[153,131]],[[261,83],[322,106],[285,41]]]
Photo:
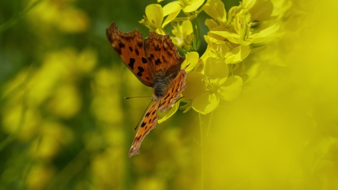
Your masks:
[[[233,50],[229,51],[229,53],[225,56],[225,63],[236,64],[243,61],[250,54],[249,45],[239,45],[235,47]]]

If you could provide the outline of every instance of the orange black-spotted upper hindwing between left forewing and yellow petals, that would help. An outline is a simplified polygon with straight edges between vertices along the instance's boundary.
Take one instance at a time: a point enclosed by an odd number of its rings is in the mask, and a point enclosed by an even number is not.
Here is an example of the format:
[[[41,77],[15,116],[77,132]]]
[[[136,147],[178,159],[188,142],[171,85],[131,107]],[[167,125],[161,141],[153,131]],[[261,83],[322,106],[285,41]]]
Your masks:
[[[144,49],[147,59],[152,62],[156,72],[164,72],[169,76],[181,68],[185,57],[178,54],[177,47],[172,43],[169,35],[160,35],[149,31],[144,40]]]

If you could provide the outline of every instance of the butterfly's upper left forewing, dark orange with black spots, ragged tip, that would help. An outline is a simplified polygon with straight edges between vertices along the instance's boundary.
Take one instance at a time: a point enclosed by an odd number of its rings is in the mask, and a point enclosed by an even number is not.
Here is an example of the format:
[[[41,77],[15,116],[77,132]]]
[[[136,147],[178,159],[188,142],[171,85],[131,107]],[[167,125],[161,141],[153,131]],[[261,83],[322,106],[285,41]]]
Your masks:
[[[106,29],[106,35],[128,69],[145,85],[153,87],[155,69],[145,56],[142,34],[120,31],[115,22]]]

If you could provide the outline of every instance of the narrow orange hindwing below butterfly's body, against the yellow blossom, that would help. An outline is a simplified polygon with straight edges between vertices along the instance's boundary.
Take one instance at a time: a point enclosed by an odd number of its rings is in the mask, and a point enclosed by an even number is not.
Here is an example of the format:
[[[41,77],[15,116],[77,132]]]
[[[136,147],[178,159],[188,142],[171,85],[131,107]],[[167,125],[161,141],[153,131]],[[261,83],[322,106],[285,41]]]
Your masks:
[[[185,78],[187,75],[184,68],[183,70],[180,70],[177,76],[169,83],[165,95],[159,100],[160,104],[158,110],[160,112],[166,111],[175,103],[176,98],[185,89]]]

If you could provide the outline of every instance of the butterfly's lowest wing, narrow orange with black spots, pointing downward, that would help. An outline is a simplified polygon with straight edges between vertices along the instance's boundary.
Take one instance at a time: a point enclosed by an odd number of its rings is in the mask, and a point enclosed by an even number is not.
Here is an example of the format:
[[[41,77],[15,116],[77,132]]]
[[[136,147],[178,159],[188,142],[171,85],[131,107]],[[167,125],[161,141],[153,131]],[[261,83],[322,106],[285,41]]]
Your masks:
[[[144,115],[143,120],[137,130],[134,141],[132,142],[128,156],[138,154],[140,152],[141,142],[150,130],[156,127],[157,120],[157,108],[159,107],[159,101],[156,101]]]

